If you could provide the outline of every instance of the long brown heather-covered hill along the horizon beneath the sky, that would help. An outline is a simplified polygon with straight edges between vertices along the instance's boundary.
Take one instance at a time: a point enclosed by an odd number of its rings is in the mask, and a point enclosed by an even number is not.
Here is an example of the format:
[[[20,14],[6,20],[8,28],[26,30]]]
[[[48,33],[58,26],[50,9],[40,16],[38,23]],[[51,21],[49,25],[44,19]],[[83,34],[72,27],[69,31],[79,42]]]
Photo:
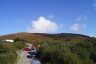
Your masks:
[[[81,34],[72,34],[72,33],[59,33],[59,34],[46,34],[46,33],[14,33],[0,36],[0,39],[15,39],[20,38],[26,42],[35,43],[35,44],[42,44],[44,42],[51,42],[51,41],[60,41],[60,40],[71,40],[78,42],[79,40],[84,40],[89,38],[86,35]]]

